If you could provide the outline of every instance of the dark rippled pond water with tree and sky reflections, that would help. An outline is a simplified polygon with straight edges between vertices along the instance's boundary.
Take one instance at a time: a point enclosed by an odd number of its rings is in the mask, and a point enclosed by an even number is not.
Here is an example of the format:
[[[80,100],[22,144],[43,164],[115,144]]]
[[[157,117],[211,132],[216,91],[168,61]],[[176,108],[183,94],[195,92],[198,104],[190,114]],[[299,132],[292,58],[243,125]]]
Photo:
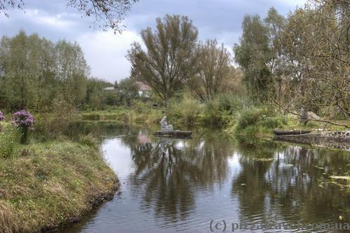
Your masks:
[[[80,223],[56,232],[311,232],[306,227],[314,223],[343,227],[315,232],[350,232],[350,192],[327,178],[349,175],[349,152],[237,143],[212,130],[190,140],[156,138],[152,129],[110,122],[70,131],[99,136],[121,188]],[[261,224],[274,229],[252,230]]]

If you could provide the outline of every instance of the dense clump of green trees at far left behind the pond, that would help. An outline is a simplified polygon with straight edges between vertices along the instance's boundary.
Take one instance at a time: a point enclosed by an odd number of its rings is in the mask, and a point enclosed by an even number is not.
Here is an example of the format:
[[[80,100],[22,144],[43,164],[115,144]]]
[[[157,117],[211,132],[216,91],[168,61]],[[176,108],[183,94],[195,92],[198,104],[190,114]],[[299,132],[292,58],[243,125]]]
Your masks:
[[[52,43],[20,31],[0,41],[0,106],[10,111],[48,111],[63,94],[78,106],[86,94],[89,67],[76,43]]]

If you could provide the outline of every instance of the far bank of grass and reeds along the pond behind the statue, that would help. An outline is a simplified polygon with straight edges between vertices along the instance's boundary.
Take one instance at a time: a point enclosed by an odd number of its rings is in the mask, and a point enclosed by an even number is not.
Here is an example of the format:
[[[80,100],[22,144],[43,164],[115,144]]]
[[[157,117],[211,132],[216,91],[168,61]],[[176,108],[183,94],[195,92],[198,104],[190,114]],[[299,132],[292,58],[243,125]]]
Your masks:
[[[165,108],[154,108],[146,104],[111,108],[106,111],[84,111],[78,113],[80,120],[116,120],[120,122],[159,125],[163,115],[175,129],[187,127],[214,127],[225,129],[239,139],[270,138],[274,129],[326,129],[344,130],[345,127],[325,122],[309,121],[300,124],[295,115],[281,114],[273,106],[255,106],[241,99],[214,99],[202,104],[194,99],[184,99]],[[332,120],[350,125],[349,120]]]

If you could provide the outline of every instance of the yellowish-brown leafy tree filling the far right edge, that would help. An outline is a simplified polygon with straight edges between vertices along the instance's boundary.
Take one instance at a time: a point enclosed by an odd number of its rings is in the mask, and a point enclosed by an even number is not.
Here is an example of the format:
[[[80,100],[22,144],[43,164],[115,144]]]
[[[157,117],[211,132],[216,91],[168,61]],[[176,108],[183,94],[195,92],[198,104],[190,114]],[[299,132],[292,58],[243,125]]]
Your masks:
[[[290,13],[283,31],[285,108],[350,116],[350,10],[311,1]]]

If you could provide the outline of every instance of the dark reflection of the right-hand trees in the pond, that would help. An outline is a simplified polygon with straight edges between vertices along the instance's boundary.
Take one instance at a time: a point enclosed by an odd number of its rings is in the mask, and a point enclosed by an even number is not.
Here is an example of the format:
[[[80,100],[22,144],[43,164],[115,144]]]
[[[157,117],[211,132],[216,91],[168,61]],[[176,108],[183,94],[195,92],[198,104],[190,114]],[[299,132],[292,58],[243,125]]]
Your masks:
[[[339,209],[350,208],[349,193],[335,185],[324,183],[323,173],[341,174],[349,164],[349,155],[316,148],[314,150],[288,146],[281,149],[267,147],[242,149],[241,172],[232,183],[232,195],[241,205],[241,220],[275,220],[304,223],[337,219]],[[270,151],[268,151],[270,150]],[[261,157],[269,153],[274,161],[256,161],[251,154]],[[339,155],[340,154],[340,155]],[[324,168],[324,169],[320,169]],[[339,169],[340,168],[340,169]],[[246,185],[241,185],[242,183]]]

